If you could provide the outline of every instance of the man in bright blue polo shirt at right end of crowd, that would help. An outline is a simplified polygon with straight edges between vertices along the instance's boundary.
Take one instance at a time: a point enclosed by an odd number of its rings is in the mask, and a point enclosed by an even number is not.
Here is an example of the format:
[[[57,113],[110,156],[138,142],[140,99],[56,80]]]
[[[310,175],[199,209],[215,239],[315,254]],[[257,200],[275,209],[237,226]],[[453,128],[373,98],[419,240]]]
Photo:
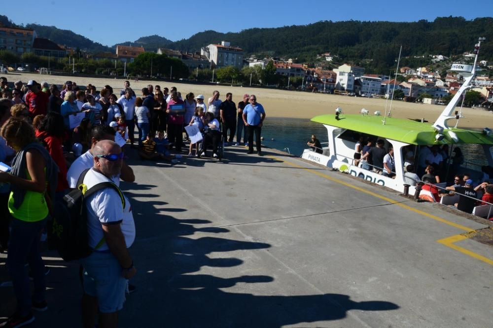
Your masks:
[[[253,154],[253,132],[255,132],[255,145],[257,154],[262,156],[262,145],[260,144],[260,133],[265,119],[264,107],[257,102],[257,97],[251,95],[249,103],[243,109],[243,122],[248,129],[248,152]]]

